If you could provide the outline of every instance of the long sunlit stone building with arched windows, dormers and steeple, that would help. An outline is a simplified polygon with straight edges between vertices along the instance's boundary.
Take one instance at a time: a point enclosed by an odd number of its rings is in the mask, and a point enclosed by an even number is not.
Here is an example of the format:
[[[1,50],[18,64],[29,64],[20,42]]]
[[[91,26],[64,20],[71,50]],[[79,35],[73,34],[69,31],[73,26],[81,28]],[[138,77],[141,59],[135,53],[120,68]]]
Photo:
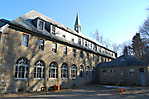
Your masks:
[[[78,15],[74,30],[36,11],[0,20],[1,91],[80,86],[95,78],[95,64],[115,58],[115,52],[83,35]]]

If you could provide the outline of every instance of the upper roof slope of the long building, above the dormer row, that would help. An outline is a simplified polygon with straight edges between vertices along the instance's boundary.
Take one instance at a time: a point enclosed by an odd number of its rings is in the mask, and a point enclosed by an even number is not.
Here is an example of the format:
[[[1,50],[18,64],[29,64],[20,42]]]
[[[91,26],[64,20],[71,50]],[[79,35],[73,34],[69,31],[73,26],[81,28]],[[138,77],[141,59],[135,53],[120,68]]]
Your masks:
[[[54,21],[53,19],[51,19],[51,18],[49,18],[49,17],[47,17],[47,16],[45,16],[45,15],[43,15],[43,14],[37,12],[37,11],[34,11],[34,10],[32,10],[32,11],[30,11],[30,12],[24,14],[24,15],[21,16],[21,17],[18,17],[17,19],[13,20],[12,23],[17,24],[17,25],[21,25],[21,26],[25,27],[26,29],[29,29],[29,30],[31,30],[31,31],[36,32],[36,31],[38,31],[38,30],[33,26],[33,24],[32,24],[30,21],[33,20],[33,19],[35,19],[35,18],[37,18],[37,17],[41,18],[41,19],[44,20],[44,21],[50,22],[50,23],[52,23],[52,24],[54,24],[54,25],[56,25],[56,26],[58,26],[58,27],[60,27],[60,28],[63,28],[64,30],[69,31],[69,32],[72,33],[72,34],[75,34],[75,35],[77,35],[77,36],[80,36],[80,37],[82,37],[82,38],[85,38],[85,39],[87,39],[87,40],[89,40],[89,41],[91,41],[91,42],[93,42],[93,43],[99,45],[100,47],[102,47],[102,48],[104,48],[104,49],[106,49],[106,50],[109,50],[109,51],[111,51],[111,52],[114,52],[114,51],[112,51],[112,50],[110,50],[110,49],[104,47],[104,45],[100,44],[100,43],[97,42],[96,40],[93,40],[92,38],[87,37],[87,36],[84,35],[83,33],[77,33],[75,30],[70,29],[69,27],[66,27],[66,26],[64,26],[63,24],[60,24],[60,23]],[[40,32],[41,32],[41,31],[40,31]],[[45,32],[45,31],[44,31],[44,32]],[[114,52],[114,53],[115,53],[115,52]]]

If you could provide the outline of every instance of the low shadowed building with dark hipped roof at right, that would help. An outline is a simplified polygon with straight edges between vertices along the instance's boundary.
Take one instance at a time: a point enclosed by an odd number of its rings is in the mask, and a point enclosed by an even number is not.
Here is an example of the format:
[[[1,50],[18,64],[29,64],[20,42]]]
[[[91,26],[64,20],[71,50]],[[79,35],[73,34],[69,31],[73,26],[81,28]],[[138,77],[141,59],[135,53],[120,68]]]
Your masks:
[[[96,79],[100,84],[149,85],[149,65],[134,56],[120,56],[111,62],[99,63]]]

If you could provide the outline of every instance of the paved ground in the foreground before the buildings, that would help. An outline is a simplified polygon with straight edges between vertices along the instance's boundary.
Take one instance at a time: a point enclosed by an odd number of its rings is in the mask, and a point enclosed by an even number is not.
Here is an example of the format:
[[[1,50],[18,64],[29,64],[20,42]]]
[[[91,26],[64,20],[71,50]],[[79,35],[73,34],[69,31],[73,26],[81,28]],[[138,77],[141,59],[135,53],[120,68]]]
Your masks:
[[[43,95],[3,97],[0,99],[149,99],[149,90],[131,90],[122,95],[117,89],[105,89],[96,87],[69,89],[61,92],[49,92]]]

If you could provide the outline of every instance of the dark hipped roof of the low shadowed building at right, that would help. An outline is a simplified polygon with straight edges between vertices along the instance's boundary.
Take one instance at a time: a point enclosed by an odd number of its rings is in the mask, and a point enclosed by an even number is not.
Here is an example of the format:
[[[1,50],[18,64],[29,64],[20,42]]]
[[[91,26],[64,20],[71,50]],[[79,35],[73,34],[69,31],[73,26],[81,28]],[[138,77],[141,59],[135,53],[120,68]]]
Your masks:
[[[128,56],[123,55],[113,61],[97,64],[97,67],[116,67],[116,66],[119,67],[119,66],[147,66],[147,65],[132,55]]]

